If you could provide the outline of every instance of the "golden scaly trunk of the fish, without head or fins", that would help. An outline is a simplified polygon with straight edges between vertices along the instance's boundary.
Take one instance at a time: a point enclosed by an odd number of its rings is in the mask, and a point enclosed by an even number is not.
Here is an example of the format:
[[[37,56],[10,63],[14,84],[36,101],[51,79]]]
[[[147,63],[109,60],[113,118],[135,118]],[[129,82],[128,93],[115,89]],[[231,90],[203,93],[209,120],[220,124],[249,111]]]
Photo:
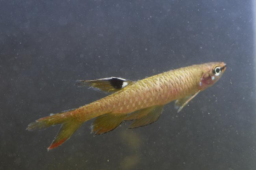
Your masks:
[[[153,75],[81,109],[90,109],[95,114],[92,117],[109,112],[127,114],[185,98],[200,89],[200,76],[205,66],[207,64],[192,65]]]

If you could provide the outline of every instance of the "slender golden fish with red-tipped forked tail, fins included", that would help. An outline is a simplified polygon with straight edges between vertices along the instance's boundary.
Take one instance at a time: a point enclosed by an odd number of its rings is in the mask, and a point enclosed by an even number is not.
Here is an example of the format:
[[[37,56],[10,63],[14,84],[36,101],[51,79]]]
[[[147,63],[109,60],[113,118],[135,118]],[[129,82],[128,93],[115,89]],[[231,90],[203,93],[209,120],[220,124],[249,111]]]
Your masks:
[[[89,86],[111,94],[82,107],[40,118],[30,123],[27,130],[42,130],[61,124],[49,151],[62,145],[90,119],[94,119],[91,130],[95,135],[110,132],[123,121],[132,121],[131,129],[149,125],[159,119],[167,103],[175,101],[177,112],[180,112],[199,92],[215,84],[225,70],[224,62],[210,62],[138,81],[117,77],[79,80],[78,86]]]

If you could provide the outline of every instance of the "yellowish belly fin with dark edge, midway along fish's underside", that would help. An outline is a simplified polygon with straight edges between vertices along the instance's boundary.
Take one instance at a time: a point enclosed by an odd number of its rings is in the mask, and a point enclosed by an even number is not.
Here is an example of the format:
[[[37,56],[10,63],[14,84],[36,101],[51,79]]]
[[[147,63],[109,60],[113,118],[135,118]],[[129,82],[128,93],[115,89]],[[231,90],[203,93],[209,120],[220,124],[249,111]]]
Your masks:
[[[125,120],[133,120],[129,128],[138,128],[156,122],[162,111],[163,106],[152,106],[127,115]]]

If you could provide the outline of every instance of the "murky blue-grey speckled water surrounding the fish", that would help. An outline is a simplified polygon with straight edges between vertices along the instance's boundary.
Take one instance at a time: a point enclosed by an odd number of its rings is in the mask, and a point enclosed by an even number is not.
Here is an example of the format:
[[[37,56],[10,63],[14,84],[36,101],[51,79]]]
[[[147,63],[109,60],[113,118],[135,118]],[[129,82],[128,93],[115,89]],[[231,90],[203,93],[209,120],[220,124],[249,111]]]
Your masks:
[[[253,2],[0,1],[0,169],[256,169]],[[90,120],[49,152],[60,126],[26,131],[107,95],[76,80],[212,61],[227,63],[221,79],[156,123],[94,137]]]

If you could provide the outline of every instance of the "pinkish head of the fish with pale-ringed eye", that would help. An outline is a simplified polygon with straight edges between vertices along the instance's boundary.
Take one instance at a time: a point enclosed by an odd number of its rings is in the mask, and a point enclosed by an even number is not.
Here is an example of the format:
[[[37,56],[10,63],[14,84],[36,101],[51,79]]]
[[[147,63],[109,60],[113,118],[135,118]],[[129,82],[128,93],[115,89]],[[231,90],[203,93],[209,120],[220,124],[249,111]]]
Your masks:
[[[224,62],[205,63],[201,67],[200,89],[206,89],[216,83],[226,70]]]

